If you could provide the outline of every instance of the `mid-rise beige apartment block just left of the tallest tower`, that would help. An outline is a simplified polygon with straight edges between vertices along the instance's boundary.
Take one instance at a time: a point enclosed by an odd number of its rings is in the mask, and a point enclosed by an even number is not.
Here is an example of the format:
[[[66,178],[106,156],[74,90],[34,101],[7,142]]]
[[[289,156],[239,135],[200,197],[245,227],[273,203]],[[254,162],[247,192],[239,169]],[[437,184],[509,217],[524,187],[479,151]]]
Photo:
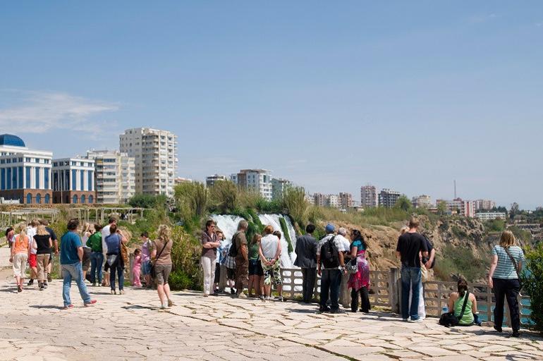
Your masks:
[[[118,150],[90,150],[87,159],[94,159],[96,202],[128,203],[135,195],[135,159]]]

